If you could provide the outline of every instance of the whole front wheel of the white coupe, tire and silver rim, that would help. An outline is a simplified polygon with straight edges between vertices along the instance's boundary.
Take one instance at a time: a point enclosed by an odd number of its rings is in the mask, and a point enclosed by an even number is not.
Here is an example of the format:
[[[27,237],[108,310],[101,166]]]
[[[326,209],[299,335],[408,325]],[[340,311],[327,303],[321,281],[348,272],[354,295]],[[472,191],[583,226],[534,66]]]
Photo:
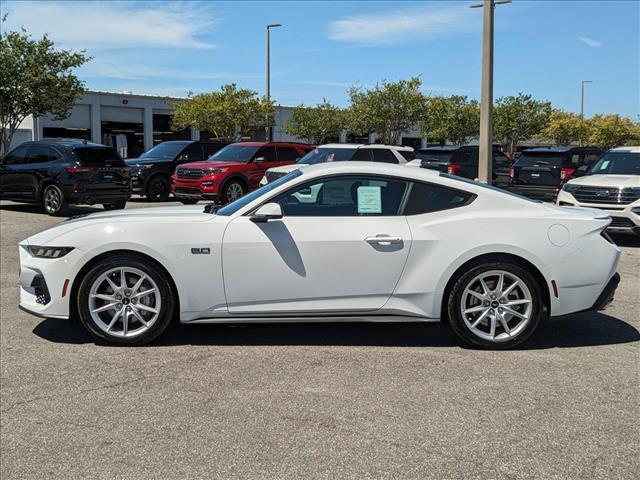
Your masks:
[[[96,338],[142,345],[160,335],[174,313],[171,285],[153,263],[127,255],[94,266],[78,290],[78,313]]]

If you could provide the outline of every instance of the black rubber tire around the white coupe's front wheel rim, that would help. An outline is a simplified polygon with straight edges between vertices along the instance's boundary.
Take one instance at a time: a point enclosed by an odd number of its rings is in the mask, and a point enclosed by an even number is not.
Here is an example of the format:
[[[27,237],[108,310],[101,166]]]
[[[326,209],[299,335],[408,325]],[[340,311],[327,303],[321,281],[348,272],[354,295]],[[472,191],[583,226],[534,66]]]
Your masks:
[[[124,336],[124,335],[116,335],[107,333],[103,328],[101,328],[98,323],[93,319],[90,312],[90,295],[91,288],[94,285],[94,282],[98,281],[98,279],[106,272],[109,272],[113,269],[119,268],[129,268],[136,269],[144,273],[144,275],[148,276],[155,284],[157,285],[157,289],[159,291],[160,298],[160,310],[158,312],[157,318],[155,321],[146,329],[139,333],[135,334],[135,336]],[[115,278],[115,277],[114,277]],[[128,281],[129,286],[131,286],[132,279],[129,277]],[[135,278],[133,279],[135,281]],[[99,282],[98,282],[99,283]],[[147,287],[142,287],[147,288]],[[133,298],[133,297],[132,297]],[[124,299],[120,300],[121,302],[125,302]],[[139,301],[142,303],[142,301]],[[127,302],[127,304],[129,304]],[[123,309],[122,304],[119,309]],[[131,306],[133,306],[133,300],[131,300]],[[152,306],[157,306],[154,304]],[[94,265],[84,276],[82,281],[80,282],[80,287],[78,288],[78,298],[77,298],[77,309],[78,316],[80,321],[85,326],[85,328],[91,333],[96,339],[104,341],[106,343],[110,343],[113,345],[144,345],[146,343],[151,342],[155,338],[157,338],[171,323],[171,320],[174,316],[176,302],[174,300],[174,293],[171,288],[171,284],[167,275],[164,271],[162,271],[159,267],[157,267],[154,263],[144,260],[138,259],[132,255],[119,254],[114,257],[108,258],[105,261],[101,261],[98,264]],[[116,308],[118,308],[116,306]],[[126,307],[124,307],[126,308]],[[108,318],[108,317],[107,317]],[[122,317],[120,317],[122,318]],[[133,317],[131,317],[133,318]],[[135,322],[135,318],[133,322]],[[132,322],[132,323],[133,323]],[[142,324],[140,324],[142,327]],[[123,329],[124,331],[124,329]],[[134,332],[135,333],[135,332]]]

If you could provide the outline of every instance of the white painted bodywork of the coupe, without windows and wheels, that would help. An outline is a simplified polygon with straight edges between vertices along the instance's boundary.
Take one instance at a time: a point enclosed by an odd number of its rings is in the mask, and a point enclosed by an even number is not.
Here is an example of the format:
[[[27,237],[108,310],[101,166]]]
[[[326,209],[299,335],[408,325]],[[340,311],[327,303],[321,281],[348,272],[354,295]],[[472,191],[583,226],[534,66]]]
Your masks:
[[[248,217],[283,190],[342,174],[431,182],[477,197],[464,207],[409,217],[284,217],[262,224]],[[34,307],[43,315],[68,315],[69,299],[59,298],[64,279],[74,279],[96,255],[126,249],[166,268],[178,290],[183,322],[238,315],[272,321],[301,312],[428,320],[439,318],[447,282],[467,261],[510,254],[539,270],[546,288],[556,280],[560,295],[551,294],[551,314],[564,315],[590,308],[615,272],[619,250],[600,235],[609,221],[606,212],[531,202],[431,170],[338,162],[306,167],[228,217],[203,213],[195,205],[110,211],[67,221],[27,242],[75,250],[58,260],[35,259],[22,251],[21,265],[37,268],[51,281],[52,302]],[[553,225],[570,232],[564,247],[549,241]],[[365,239],[378,234],[402,237],[402,248],[376,250]],[[191,248],[209,248],[210,254],[194,255]],[[23,289],[23,306],[33,306],[31,297]]]

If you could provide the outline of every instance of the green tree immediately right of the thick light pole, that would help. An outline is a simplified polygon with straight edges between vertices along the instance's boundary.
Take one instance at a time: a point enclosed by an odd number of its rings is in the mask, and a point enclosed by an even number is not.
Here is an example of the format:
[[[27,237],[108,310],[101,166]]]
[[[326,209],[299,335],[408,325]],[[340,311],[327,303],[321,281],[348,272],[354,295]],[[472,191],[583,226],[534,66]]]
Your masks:
[[[496,100],[493,109],[493,138],[513,152],[518,143],[540,134],[549,122],[551,103],[519,93]]]

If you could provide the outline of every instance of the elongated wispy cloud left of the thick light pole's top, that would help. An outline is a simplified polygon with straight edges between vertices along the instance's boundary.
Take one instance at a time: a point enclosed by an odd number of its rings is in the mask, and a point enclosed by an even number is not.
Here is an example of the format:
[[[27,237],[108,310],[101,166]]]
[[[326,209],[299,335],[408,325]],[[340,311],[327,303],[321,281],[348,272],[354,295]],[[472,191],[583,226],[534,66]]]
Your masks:
[[[331,40],[356,45],[391,45],[469,31],[481,23],[473,13],[468,5],[455,2],[453,7],[429,6],[353,15],[330,22],[327,34]]]

